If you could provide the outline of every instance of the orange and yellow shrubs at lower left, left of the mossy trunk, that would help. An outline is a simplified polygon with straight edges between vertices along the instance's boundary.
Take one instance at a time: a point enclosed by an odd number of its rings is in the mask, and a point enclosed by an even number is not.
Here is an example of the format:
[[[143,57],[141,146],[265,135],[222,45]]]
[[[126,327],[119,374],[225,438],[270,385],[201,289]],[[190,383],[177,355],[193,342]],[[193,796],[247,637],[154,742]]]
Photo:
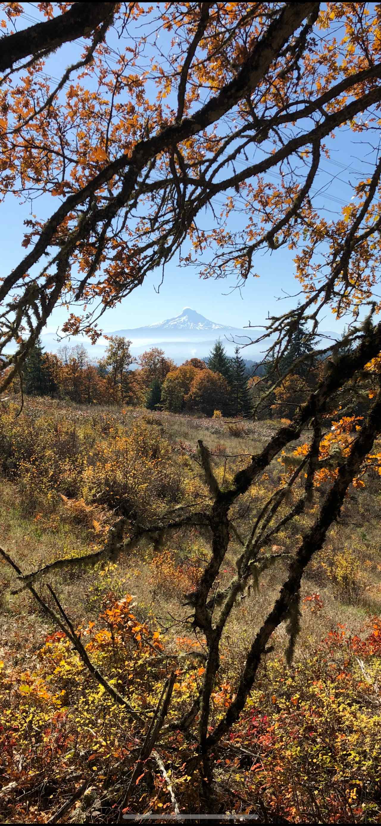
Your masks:
[[[133,708],[145,713],[157,702],[165,671],[151,666],[148,700],[145,660],[152,660],[155,650],[160,653],[162,643],[158,632],[134,615],[132,597],[110,601],[96,622],[83,624],[80,631],[92,661],[111,683],[118,683]],[[13,803],[12,784],[17,795],[39,784],[47,789],[28,812],[21,807],[21,820],[24,812],[28,821],[44,822],[39,813],[54,805],[64,777],[67,784],[73,773],[89,771],[102,784],[105,771],[134,762],[139,723],[126,729],[125,711],[92,681],[62,631],[46,637],[35,670],[22,671],[11,662],[0,667],[2,785],[11,782],[10,793],[0,798],[3,819]]]

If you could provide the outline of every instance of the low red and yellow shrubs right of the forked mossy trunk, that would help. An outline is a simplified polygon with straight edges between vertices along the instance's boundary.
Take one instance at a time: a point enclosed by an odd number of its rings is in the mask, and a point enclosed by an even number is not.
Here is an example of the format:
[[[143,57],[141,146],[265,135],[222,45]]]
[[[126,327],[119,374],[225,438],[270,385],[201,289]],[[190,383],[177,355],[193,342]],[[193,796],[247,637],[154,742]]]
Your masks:
[[[379,822],[379,633],[376,619],[365,638],[341,624],[289,671],[279,658],[261,670],[232,742],[250,753],[247,792],[274,819]]]

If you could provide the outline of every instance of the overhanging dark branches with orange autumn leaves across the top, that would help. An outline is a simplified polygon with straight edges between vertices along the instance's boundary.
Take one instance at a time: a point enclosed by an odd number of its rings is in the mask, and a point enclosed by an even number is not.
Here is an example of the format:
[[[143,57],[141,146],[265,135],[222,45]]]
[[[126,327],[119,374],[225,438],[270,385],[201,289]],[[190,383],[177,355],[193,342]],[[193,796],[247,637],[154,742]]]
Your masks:
[[[26,252],[0,288],[5,383],[59,301],[66,330],[95,337],[96,318],[175,254],[244,283],[257,252],[294,249],[298,314],[313,325],[327,303],[341,315],[372,299],[379,6],[43,3],[26,29],[22,4],[2,7],[0,194],[34,204]],[[78,59],[55,81],[45,61],[56,50],[59,64],[68,41]],[[366,131],[369,153],[347,205],[327,216],[313,194],[343,126]],[[286,314],[269,326],[287,342],[293,325]]]

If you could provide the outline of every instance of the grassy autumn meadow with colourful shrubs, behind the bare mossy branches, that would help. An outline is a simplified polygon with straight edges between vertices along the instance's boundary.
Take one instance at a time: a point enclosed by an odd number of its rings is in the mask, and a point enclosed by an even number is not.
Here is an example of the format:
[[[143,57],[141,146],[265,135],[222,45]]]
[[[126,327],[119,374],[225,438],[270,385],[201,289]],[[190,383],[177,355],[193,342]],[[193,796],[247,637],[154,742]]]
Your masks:
[[[21,415],[19,409],[12,399],[0,411],[0,545],[23,574],[97,553],[120,515],[151,525],[163,514],[204,506],[210,491],[198,440],[208,446],[223,490],[280,425],[46,398],[28,398]],[[290,445],[291,456],[310,438],[306,430]],[[286,472],[285,459],[275,458],[233,505],[238,539]],[[238,722],[214,750],[214,812],[256,814],[266,823],[381,822],[380,496],[378,472],[350,486],[340,519],[309,563],[293,662],[285,662],[284,623]],[[229,616],[214,725],[232,703],[287,554],[311,518],[303,512],[276,534],[271,549],[280,560],[242,592]],[[234,576],[238,539],[219,573],[220,589]],[[205,640],[192,627],[184,595],[195,590],[208,558],[207,529],[191,525],[142,535],[115,558],[53,568],[36,584],[49,610],[57,610],[54,595],[64,606],[129,715],[92,679],[3,556],[2,820],[111,823],[134,812],[205,810],[195,767],[197,709],[189,726],[176,720],[192,708],[205,672]],[[142,721],[152,718],[172,674],[155,764],[152,755],[142,757]]]

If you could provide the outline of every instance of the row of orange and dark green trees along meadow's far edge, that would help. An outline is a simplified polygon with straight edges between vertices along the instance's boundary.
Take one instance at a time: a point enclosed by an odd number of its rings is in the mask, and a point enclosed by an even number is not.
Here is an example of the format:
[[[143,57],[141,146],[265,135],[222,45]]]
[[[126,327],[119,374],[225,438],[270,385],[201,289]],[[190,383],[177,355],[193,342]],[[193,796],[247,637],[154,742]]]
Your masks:
[[[123,336],[111,335],[104,357],[92,360],[82,344],[65,346],[54,354],[45,353],[39,340],[12,392],[20,392],[22,384],[26,395],[78,404],[125,404],[208,416],[220,411],[224,416],[248,417],[254,412],[259,419],[289,419],[324,369],[302,324],[296,326],[281,358],[270,353],[263,363],[252,362],[251,370],[239,348],[230,358],[220,339],[208,357],[190,358],[180,366],[158,347],[134,358],[131,344]]]

